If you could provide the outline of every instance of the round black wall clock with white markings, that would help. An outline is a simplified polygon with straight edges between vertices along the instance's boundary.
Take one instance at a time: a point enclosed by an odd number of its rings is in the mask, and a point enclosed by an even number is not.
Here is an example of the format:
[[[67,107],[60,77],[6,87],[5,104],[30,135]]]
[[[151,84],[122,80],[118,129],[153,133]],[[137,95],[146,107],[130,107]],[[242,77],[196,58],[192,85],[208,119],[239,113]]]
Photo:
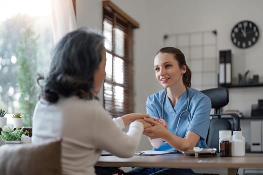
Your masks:
[[[231,32],[232,42],[238,48],[251,47],[257,42],[258,38],[258,27],[249,20],[238,22]]]

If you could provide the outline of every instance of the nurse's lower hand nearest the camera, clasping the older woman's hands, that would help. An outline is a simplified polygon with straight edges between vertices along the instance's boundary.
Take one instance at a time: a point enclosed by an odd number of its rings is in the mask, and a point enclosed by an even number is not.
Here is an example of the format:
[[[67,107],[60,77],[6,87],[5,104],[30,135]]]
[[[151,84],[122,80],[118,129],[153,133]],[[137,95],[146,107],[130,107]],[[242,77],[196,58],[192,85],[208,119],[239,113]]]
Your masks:
[[[154,118],[145,118],[145,121],[148,123],[151,123],[152,127],[145,128],[143,131],[143,134],[148,136],[150,139],[154,138],[163,138],[169,134],[169,130],[164,127],[161,123],[158,121],[155,121]]]

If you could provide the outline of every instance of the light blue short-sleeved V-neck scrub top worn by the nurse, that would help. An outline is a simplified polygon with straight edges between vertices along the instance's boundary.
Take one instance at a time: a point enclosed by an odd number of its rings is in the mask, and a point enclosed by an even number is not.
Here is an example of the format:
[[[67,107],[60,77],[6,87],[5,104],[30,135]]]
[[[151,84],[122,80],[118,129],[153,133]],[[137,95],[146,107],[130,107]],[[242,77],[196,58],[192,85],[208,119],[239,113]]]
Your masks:
[[[188,88],[190,95],[189,111],[191,113],[190,125],[188,131],[194,132],[200,136],[195,147],[207,148],[206,137],[208,134],[210,124],[210,112],[211,112],[211,100],[205,94],[199,92],[196,89]],[[146,101],[146,111],[151,117],[162,118],[162,103],[165,96],[166,89],[163,89],[151,96],[148,96]],[[176,127],[178,124],[180,114],[187,109],[188,96],[185,91],[179,98],[174,107],[172,107],[168,96],[166,95],[164,100],[163,119],[167,122],[168,129],[173,134],[176,134]],[[187,127],[189,113],[183,112],[180,122],[177,128],[177,136],[184,138]],[[168,143],[163,142],[162,145],[153,150],[169,151],[175,150]]]

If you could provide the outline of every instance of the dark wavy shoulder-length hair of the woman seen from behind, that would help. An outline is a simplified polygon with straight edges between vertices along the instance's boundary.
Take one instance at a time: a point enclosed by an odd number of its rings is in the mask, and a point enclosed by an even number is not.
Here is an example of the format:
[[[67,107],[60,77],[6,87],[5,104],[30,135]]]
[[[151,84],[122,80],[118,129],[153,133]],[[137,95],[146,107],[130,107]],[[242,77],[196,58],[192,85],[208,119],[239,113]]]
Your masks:
[[[79,28],[66,34],[52,52],[48,76],[38,77],[40,97],[51,103],[71,95],[97,99],[91,88],[103,48],[104,36],[96,31]]]

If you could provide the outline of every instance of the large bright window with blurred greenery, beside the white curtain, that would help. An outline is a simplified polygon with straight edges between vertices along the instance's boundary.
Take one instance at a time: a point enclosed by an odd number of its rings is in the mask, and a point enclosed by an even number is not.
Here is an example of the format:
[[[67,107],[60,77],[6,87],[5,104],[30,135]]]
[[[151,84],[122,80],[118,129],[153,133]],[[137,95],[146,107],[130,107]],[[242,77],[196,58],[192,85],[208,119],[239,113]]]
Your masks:
[[[32,126],[38,100],[36,73],[48,70],[54,46],[49,0],[0,1],[0,107]]]

